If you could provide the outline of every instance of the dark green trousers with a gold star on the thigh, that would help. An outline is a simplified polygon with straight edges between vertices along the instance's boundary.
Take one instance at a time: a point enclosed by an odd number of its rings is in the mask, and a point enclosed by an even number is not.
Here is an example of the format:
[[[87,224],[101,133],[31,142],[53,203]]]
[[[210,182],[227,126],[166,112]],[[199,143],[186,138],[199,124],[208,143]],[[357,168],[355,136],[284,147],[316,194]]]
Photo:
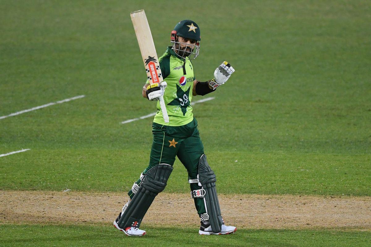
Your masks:
[[[198,174],[198,161],[204,154],[204,146],[197,129],[197,120],[193,119],[183,126],[165,126],[157,123],[152,124],[153,143],[151,148],[150,163],[143,174],[158,164],[169,164],[173,166],[175,156],[184,165],[188,172],[188,179],[196,179]],[[184,179],[184,183],[188,180]],[[141,179],[137,180],[139,186]],[[199,190],[201,186],[191,183],[191,190]],[[134,193],[129,190],[130,198]],[[206,213],[203,198],[194,198],[194,204],[198,214]]]

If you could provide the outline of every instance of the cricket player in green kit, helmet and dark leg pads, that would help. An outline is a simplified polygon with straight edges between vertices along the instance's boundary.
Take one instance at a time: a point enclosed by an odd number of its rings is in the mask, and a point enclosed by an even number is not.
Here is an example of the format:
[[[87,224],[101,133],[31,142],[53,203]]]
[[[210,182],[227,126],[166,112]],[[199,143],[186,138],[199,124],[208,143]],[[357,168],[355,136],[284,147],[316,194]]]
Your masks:
[[[229,234],[237,230],[236,227],[226,226],[221,217],[216,176],[204,154],[190,104],[193,96],[212,93],[226,83],[234,69],[224,61],[214,71],[213,79],[197,81],[191,59],[199,54],[200,40],[200,28],[196,22],[180,21],[171,32],[172,46],[159,58],[164,81],[149,84],[147,80],[143,86],[142,95],[148,100],[164,97],[170,121],[165,123],[157,101],[149,165],[128,192],[128,203],[114,221],[114,226],[128,236],[143,236],[146,233],[139,229],[139,225],[155,196],[164,190],[175,156],[188,171],[191,197],[201,220],[199,234]]]

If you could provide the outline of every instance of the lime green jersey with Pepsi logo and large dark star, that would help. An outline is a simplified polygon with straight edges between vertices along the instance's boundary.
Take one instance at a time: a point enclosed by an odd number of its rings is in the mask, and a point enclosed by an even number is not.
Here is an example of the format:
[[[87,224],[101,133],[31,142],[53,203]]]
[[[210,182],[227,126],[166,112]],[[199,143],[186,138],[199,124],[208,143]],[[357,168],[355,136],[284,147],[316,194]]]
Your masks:
[[[160,102],[157,102],[157,113],[154,122],[167,126],[182,126],[193,120],[192,100],[193,65],[191,61],[178,57],[171,46],[159,57],[162,78],[167,82],[164,93],[166,110],[169,115],[169,123],[165,123],[162,117]]]

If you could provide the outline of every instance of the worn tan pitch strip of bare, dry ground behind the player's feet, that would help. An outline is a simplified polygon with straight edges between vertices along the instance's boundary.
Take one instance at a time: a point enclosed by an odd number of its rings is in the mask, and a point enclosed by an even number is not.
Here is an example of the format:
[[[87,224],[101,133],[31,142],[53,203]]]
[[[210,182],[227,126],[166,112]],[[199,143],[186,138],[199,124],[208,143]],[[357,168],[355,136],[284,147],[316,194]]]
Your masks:
[[[125,193],[0,191],[0,223],[111,224]],[[220,194],[224,220],[242,228],[347,227],[371,230],[371,197]],[[142,226],[198,226],[188,194],[160,193]]]

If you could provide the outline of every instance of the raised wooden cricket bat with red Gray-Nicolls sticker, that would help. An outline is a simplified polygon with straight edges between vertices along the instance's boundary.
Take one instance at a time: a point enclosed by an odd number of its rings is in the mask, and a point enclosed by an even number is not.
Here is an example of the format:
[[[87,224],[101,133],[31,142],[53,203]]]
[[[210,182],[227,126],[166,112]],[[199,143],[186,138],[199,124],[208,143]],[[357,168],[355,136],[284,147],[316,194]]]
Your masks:
[[[137,10],[130,13],[131,21],[134,26],[135,34],[139,44],[140,52],[142,53],[142,59],[144,62],[145,71],[147,72],[148,81],[150,84],[158,83],[164,79],[158,63],[158,57],[153,43],[150,25],[148,25],[147,16],[145,16],[144,10]],[[169,116],[167,114],[164,97],[160,97],[160,107],[162,116],[164,117],[165,123],[169,122]]]

